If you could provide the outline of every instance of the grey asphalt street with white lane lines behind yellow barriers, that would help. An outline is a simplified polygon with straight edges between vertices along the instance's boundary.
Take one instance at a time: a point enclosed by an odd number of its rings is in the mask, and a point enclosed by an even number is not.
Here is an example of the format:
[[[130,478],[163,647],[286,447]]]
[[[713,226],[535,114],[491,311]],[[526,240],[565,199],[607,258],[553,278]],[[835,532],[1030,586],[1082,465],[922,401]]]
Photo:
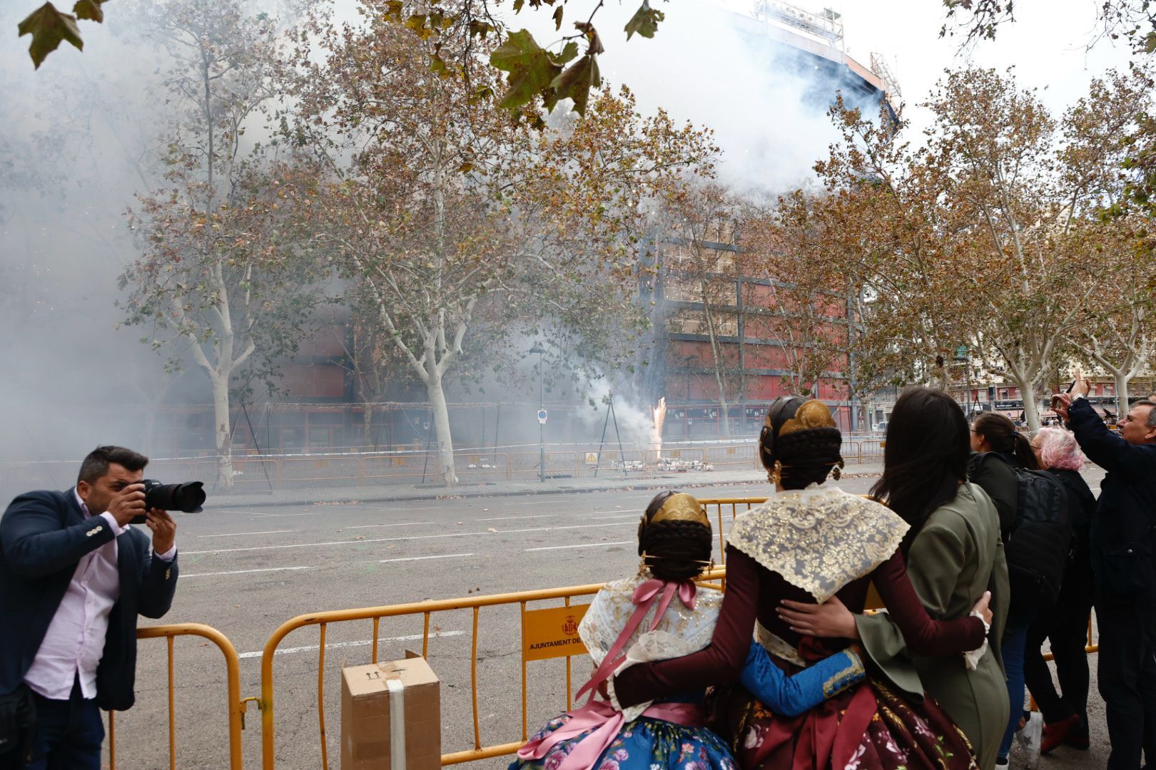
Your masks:
[[[1102,473],[1088,473],[1094,488]],[[866,492],[873,477],[840,486]],[[698,487],[698,498],[765,495],[764,485]],[[180,582],[157,622],[200,622],[223,631],[240,653],[242,696],[260,694],[260,658],[269,635],[303,613],[449,599],[632,575],[635,529],[653,489],[408,502],[227,507],[177,514]],[[585,601],[581,599],[579,601]],[[556,606],[558,603],[553,603]],[[540,605],[547,606],[547,605]],[[520,739],[520,643],[517,608],[483,610],[479,634],[479,730],[483,745]],[[429,659],[443,681],[443,750],[473,747],[469,660],[472,613],[431,620]],[[384,620],[379,659],[421,650],[421,619]],[[324,747],[340,767],[340,674],[370,661],[371,621],[326,629]],[[321,767],[318,720],[319,629],[289,634],[274,659],[276,767]],[[142,641],[138,704],[117,716],[117,764],[162,768],[169,761],[166,645]],[[176,658],[176,756],[179,768],[227,768],[224,664],[210,643],[181,637]],[[529,664],[529,730],[564,707],[561,660]],[[575,688],[588,674],[575,665]],[[1095,693],[1095,686],[1094,686]],[[1060,749],[1042,767],[1103,767],[1106,733],[1097,697],[1092,750]],[[260,713],[250,704],[243,745],[246,768],[260,764]],[[507,758],[489,760],[499,768]]]

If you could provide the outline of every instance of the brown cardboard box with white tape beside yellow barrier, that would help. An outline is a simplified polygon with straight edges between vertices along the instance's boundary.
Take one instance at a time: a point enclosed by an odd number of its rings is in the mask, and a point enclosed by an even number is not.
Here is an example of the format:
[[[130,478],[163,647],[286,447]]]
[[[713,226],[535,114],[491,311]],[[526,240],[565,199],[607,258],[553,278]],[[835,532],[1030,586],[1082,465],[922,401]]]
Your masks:
[[[440,682],[425,658],[341,672],[341,770],[440,770]]]

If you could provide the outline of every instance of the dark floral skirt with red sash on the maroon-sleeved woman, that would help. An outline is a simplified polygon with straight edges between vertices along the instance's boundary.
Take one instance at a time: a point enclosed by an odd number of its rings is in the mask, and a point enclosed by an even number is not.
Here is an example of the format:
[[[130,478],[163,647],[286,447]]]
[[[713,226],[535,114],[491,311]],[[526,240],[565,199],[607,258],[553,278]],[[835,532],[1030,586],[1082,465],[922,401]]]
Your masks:
[[[969,770],[971,745],[931,697],[911,704],[877,679],[798,717],[771,713],[739,685],[711,698],[711,726],[743,770]]]

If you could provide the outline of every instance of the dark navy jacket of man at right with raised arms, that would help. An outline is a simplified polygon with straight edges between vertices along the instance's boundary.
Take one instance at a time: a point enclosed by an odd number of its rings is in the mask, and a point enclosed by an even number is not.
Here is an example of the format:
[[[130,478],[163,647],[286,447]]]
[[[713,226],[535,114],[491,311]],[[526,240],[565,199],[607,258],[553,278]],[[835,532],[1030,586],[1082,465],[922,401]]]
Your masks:
[[[1091,522],[1097,597],[1156,600],[1156,444],[1128,443],[1087,398],[1072,402],[1068,418],[1088,459],[1107,471]]]

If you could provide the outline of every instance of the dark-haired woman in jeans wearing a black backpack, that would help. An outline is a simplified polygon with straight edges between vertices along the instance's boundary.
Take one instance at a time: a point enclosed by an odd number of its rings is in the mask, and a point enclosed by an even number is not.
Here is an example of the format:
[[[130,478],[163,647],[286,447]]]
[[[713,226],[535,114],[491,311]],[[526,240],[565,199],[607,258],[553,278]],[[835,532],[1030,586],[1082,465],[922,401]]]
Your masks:
[[[971,449],[975,454],[968,463],[968,478],[987,493],[999,511],[1011,591],[1001,640],[1011,710],[995,763],[1000,769],[1008,767],[1011,740],[1023,715],[1028,629],[1040,608],[1059,596],[1072,530],[1064,487],[1039,469],[1031,443],[1010,419],[993,412],[976,418]],[[1028,739],[1033,767],[1039,735]]]

